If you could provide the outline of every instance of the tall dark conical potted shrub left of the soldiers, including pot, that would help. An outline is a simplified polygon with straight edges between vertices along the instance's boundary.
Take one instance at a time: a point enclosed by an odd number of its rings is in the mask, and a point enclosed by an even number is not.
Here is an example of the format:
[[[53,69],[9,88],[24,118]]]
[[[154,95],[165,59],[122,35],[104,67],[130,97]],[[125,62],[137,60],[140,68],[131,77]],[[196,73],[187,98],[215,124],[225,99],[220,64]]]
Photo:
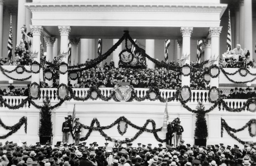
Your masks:
[[[48,91],[43,99],[43,107],[40,111],[40,126],[39,126],[39,138],[40,144],[46,144],[47,141],[52,142],[52,113],[49,109],[50,99],[48,97]]]

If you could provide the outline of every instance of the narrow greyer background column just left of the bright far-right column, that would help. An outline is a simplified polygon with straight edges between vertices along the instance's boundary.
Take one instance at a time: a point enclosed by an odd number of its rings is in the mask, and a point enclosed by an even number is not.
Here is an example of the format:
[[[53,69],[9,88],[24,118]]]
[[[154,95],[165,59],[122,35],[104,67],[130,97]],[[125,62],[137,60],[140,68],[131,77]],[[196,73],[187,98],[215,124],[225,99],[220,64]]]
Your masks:
[[[239,44],[241,44],[242,48],[244,48],[244,19],[244,0],[241,0],[239,6]]]

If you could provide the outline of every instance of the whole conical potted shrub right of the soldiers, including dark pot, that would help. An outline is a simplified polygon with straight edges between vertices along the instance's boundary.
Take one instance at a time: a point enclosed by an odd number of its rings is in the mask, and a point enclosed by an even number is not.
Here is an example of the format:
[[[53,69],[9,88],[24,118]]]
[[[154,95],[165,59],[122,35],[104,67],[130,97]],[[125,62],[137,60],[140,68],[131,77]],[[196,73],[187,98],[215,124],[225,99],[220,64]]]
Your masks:
[[[195,122],[195,145],[206,146],[206,139],[208,137],[207,123],[205,120],[204,105],[202,102],[198,102],[197,109],[197,121]]]

